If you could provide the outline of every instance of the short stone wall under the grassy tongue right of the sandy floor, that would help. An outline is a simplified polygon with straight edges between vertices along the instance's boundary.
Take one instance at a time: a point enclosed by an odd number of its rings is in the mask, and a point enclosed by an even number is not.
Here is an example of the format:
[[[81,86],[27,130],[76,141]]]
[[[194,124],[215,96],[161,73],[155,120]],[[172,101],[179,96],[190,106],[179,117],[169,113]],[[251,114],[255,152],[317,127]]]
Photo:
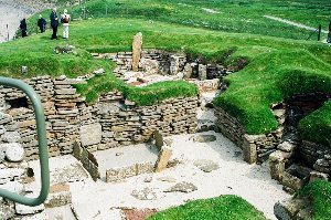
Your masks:
[[[263,163],[274,153],[284,134],[285,109],[281,105],[273,107],[279,128],[266,135],[248,135],[241,123],[221,107],[215,107],[216,126],[220,132],[243,149],[244,160]]]

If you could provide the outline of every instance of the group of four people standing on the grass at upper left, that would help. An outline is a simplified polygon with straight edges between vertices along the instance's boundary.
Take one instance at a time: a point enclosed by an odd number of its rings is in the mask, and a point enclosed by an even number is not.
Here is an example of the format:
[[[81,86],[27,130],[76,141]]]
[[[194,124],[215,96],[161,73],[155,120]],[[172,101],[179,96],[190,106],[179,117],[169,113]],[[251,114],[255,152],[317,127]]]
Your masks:
[[[21,30],[21,36],[22,38],[28,36],[26,20],[28,20],[28,18],[23,18],[21,20],[21,23],[20,23],[20,30]],[[57,28],[60,25],[60,22],[63,23],[63,39],[68,39],[68,23],[71,21],[71,15],[67,13],[66,9],[64,9],[64,12],[61,15],[60,21],[58,21],[58,17],[57,17],[57,13],[56,13],[56,8],[54,8],[52,10],[51,14],[50,14],[50,21],[51,21],[51,28],[53,30],[51,40],[58,39],[57,38]],[[36,25],[39,27],[41,33],[45,32],[46,24],[47,24],[46,20],[40,14],[39,19],[38,19],[38,22],[36,22]]]

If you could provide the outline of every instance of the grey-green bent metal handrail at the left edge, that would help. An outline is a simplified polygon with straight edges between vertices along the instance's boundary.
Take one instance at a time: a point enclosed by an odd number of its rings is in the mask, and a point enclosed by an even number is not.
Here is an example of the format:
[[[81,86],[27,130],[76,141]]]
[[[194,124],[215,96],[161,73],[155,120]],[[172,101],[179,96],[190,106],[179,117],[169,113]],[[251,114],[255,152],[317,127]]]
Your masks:
[[[42,184],[40,195],[36,198],[23,197],[4,189],[0,189],[0,196],[9,200],[17,201],[19,203],[26,205],[30,207],[39,206],[46,200],[50,190],[49,150],[47,150],[47,140],[46,140],[44,109],[38,94],[26,83],[20,80],[0,76],[0,84],[15,87],[23,91],[32,102],[32,106],[35,114],[35,121],[36,121],[39,156],[40,156],[40,166],[41,166],[41,184]]]

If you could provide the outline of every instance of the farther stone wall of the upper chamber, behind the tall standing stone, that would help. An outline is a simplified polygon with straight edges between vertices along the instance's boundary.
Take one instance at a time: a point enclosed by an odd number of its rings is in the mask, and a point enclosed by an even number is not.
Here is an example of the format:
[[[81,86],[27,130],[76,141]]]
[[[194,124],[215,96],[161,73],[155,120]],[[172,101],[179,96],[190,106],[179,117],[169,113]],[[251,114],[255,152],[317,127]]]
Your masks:
[[[114,73],[117,77],[125,80],[124,73],[132,71],[132,52],[119,53],[94,53],[98,59],[110,59],[116,64]],[[161,50],[145,50],[138,71],[147,74],[178,75],[180,78],[213,80],[231,74],[221,64],[206,63],[199,59],[191,59],[184,53],[173,53]]]

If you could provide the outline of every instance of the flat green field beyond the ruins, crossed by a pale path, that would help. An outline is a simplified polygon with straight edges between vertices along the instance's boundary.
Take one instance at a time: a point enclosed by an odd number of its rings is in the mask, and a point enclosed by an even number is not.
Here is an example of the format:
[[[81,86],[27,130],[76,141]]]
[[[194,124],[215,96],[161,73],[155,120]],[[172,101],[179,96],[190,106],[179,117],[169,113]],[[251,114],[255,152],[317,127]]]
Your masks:
[[[88,17],[141,18],[236,33],[254,33],[291,39],[307,39],[311,31],[264,18],[276,15],[325,30],[331,6],[320,0],[89,0]],[[211,13],[206,10],[214,10]],[[82,9],[71,8],[74,18]],[[325,35],[324,35],[325,36]],[[314,36],[317,39],[317,35]]]

